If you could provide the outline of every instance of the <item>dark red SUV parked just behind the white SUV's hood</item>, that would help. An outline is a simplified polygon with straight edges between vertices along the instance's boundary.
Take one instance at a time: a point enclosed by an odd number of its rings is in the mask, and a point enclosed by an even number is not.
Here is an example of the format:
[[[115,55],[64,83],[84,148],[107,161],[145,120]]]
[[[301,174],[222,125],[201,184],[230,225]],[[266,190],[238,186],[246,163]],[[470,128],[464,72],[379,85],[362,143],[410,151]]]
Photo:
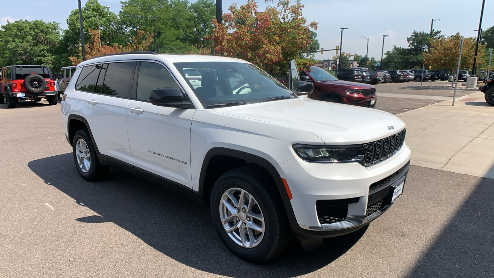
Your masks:
[[[310,68],[310,72],[300,72],[300,81],[314,83],[314,91],[308,95],[309,98],[375,108],[377,95],[374,86],[340,81],[320,67]],[[279,78],[278,81],[288,84],[288,78]]]

